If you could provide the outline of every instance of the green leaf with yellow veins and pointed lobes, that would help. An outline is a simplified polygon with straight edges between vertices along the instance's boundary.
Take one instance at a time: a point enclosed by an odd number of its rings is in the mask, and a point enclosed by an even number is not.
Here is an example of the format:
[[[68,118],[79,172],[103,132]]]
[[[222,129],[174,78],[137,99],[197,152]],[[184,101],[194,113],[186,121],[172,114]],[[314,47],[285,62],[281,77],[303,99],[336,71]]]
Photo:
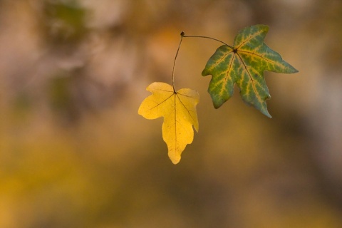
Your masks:
[[[255,25],[237,33],[234,47],[223,45],[209,58],[202,76],[212,75],[208,92],[214,108],[232,97],[236,83],[242,100],[271,118],[266,100],[271,98],[264,79],[264,71],[296,73],[293,66],[264,43],[269,27]]]

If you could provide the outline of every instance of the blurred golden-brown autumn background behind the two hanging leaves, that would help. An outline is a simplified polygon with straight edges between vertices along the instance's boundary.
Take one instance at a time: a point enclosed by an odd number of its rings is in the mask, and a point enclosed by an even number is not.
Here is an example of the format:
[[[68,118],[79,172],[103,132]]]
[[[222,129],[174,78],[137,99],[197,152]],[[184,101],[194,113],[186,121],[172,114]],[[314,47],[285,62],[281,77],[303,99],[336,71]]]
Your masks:
[[[201,72],[221,43],[184,38],[175,86],[199,92],[178,165],[162,118],[180,32],[266,44],[299,70],[266,72],[272,119]],[[342,227],[342,1],[0,0],[0,227]]]

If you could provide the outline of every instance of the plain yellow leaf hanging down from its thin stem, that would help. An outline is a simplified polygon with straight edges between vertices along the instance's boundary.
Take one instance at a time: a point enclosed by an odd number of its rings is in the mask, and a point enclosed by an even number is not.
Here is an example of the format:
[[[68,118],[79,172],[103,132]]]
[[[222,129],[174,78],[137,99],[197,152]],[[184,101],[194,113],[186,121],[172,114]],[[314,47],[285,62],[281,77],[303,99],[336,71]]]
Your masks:
[[[142,101],[138,114],[146,119],[164,117],[162,138],[167,144],[172,163],[180,162],[180,155],[187,144],[192,143],[195,130],[198,132],[196,105],[197,91],[189,88],[173,89],[167,83],[152,83],[147,86],[152,95]]]

